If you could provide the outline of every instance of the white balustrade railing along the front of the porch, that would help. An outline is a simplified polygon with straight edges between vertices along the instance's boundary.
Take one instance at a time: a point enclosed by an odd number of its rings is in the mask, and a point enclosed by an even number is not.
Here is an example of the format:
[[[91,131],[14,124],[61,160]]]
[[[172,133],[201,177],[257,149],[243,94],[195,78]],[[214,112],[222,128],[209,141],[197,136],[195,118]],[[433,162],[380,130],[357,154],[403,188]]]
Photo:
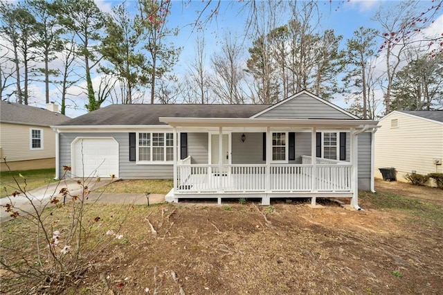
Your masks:
[[[350,192],[349,163],[177,165],[177,193]]]

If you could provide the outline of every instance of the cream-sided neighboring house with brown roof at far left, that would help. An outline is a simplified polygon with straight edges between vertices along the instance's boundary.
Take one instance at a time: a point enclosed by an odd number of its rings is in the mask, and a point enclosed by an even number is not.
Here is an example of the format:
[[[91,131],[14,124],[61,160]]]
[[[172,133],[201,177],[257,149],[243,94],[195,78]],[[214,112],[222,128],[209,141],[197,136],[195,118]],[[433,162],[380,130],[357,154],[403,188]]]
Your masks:
[[[0,157],[1,171],[55,168],[55,133],[49,125],[70,118],[57,112],[57,105],[48,109],[1,101]]]

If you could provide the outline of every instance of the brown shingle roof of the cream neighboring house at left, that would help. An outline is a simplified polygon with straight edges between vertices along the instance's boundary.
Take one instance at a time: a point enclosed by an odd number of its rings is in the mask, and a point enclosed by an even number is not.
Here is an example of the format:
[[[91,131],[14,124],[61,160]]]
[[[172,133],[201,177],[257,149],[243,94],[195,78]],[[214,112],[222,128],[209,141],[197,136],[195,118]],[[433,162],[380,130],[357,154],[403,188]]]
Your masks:
[[[3,123],[49,126],[63,123],[69,119],[68,116],[39,107],[31,107],[3,100],[1,100],[0,104],[0,122]]]

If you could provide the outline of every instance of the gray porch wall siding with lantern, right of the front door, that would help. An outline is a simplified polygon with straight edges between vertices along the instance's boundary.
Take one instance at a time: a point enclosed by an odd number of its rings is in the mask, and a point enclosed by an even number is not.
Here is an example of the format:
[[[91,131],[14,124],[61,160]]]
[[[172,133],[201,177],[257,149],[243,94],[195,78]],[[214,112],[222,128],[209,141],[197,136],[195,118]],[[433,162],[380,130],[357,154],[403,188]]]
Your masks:
[[[243,133],[233,133],[232,163],[233,164],[262,164],[263,161],[263,133],[245,132],[246,140],[242,142]]]

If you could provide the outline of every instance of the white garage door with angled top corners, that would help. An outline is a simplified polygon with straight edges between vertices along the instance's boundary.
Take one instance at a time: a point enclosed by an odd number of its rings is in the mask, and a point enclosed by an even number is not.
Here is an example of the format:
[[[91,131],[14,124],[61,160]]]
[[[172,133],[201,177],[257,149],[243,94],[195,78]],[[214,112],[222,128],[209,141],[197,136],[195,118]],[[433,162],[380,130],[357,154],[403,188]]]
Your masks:
[[[76,177],[118,177],[118,143],[114,138],[78,138],[73,156]]]

